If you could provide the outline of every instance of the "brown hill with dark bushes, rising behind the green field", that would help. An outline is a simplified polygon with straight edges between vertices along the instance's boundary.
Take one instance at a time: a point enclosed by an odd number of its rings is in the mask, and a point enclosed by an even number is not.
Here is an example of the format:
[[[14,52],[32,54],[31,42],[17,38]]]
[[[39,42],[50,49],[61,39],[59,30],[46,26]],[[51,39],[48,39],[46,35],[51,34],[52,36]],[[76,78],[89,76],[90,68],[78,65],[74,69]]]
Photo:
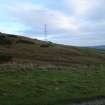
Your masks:
[[[105,52],[0,33],[0,62],[63,66],[97,65],[105,63]]]

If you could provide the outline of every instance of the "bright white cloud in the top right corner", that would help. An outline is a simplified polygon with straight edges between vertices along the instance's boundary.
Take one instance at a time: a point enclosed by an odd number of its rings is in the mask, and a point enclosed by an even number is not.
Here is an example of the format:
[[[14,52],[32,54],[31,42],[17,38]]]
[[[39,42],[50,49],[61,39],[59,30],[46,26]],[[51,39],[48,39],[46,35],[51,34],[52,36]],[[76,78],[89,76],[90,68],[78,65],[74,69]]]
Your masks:
[[[105,19],[105,0],[65,0],[74,15],[87,19]]]

